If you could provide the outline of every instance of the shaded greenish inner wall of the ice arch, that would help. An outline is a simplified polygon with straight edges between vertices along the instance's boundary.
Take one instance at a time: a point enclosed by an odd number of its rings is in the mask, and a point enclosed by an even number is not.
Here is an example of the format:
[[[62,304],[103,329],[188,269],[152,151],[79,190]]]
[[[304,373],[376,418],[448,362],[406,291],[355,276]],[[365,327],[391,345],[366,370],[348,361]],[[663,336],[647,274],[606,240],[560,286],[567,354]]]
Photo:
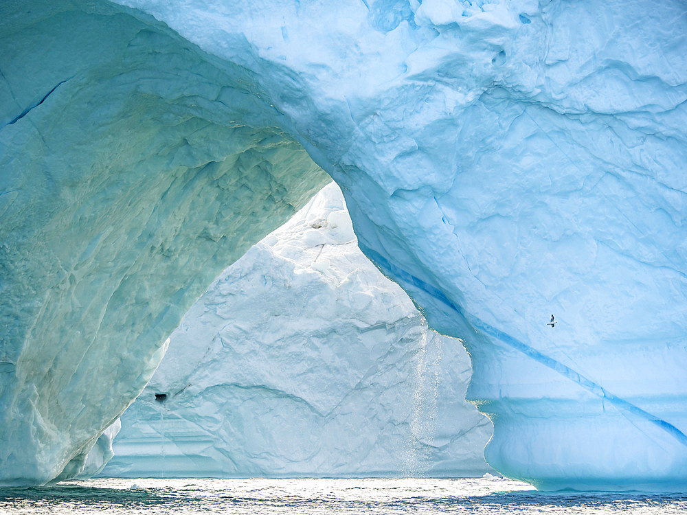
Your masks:
[[[10,1],[0,37],[0,483],[45,483],[81,472],[183,312],[328,177],[249,71],[150,16]]]

